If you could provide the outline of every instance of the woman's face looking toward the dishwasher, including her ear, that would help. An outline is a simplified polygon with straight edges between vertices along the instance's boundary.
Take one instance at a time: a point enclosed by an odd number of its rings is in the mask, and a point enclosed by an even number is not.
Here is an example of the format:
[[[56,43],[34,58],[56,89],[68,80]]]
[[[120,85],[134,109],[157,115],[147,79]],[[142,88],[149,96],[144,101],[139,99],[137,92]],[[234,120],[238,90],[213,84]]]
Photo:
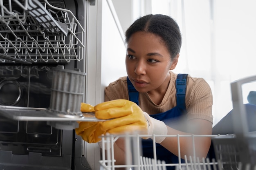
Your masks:
[[[170,53],[158,35],[139,31],[130,37],[126,51],[126,71],[137,91],[166,91],[170,81],[168,72],[176,64],[176,60],[171,62]]]

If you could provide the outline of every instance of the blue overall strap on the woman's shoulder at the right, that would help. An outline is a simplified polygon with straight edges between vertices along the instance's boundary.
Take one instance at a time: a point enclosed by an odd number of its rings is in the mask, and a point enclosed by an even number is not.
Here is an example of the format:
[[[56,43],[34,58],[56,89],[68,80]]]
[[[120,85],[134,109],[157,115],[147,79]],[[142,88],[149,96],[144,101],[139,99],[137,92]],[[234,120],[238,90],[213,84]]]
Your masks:
[[[184,113],[186,111],[186,79],[187,74],[178,74],[176,79],[176,101],[177,107]]]

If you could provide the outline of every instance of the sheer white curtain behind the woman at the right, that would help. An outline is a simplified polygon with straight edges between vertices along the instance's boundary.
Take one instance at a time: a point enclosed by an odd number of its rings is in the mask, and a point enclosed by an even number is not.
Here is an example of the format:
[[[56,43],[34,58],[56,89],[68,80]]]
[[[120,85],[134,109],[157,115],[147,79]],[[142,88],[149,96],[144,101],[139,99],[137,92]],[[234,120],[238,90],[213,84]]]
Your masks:
[[[170,15],[182,31],[174,72],[211,86],[213,125],[232,109],[230,83],[256,75],[255,9],[255,0],[152,0],[152,13]]]

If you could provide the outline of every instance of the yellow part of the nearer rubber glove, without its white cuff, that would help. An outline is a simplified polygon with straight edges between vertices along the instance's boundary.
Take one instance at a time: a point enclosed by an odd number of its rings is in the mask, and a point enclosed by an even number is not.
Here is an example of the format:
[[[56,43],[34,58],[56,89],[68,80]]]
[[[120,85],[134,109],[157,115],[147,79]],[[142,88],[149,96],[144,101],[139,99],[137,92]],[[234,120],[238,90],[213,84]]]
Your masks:
[[[97,119],[111,119],[101,123],[101,129],[111,134],[140,131],[147,134],[148,123],[137,104],[125,99],[103,102],[94,107]]]

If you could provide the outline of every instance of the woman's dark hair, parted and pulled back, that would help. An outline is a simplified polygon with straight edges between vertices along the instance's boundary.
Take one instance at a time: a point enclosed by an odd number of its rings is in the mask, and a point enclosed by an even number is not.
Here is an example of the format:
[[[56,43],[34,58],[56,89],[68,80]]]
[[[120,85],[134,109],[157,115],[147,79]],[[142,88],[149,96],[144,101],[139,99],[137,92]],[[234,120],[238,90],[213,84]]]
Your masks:
[[[162,38],[171,58],[180,53],[182,36],[178,24],[171,17],[162,14],[149,14],[137,19],[126,30],[126,43],[137,31],[154,33]]]

